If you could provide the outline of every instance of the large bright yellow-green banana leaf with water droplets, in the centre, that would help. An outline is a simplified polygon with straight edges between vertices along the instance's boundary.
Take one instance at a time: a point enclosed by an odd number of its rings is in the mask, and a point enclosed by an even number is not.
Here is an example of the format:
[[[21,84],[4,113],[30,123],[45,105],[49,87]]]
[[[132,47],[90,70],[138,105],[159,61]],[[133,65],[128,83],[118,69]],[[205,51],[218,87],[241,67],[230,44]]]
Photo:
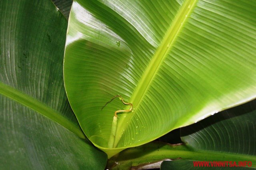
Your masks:
[[[108,156],[256,97],[254,0],[74,0],[64,84]],[[114,148],[109,148],[114,112]]]

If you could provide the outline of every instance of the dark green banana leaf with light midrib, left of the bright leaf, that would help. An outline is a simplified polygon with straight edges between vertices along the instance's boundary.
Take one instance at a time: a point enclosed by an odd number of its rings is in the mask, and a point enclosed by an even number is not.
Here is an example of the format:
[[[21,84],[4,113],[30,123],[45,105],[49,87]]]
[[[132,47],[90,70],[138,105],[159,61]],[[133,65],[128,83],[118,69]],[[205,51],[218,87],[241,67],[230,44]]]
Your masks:
[[[1,170],[105,167],[66,98],[66,28],[50,0],[0,1]]]

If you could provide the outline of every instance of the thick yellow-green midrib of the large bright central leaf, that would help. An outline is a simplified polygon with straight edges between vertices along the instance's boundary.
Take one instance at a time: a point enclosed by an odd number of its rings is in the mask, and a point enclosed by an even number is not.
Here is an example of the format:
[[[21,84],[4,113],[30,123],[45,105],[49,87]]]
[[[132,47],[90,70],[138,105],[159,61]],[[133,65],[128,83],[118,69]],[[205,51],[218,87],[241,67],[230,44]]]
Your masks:
[[[154,56],[152,57],[152,60],[150,61],[148,67],[144,71],[144,74],[142,75],[138,86],[133,92],[132,97],[130,98],[129,102],[131,102],[134,106],[134,108],[138,107],[140,105],[140,102],[146,93],[147,89],[149,88],[154,76],[156,75],[157,70],[160,68],[161,63],[166,57],[166,54],[173,46],[173,43],[178,36],[178,33],[182,29],[183,23],[186,21],[187,16],[192,12],[192,9],[194,5],[196,4],[197,0],[186,0],[180,10],[178,11],[178,14],[176,15],[176,18],[172,23],[170,23],[170,27],[167,30],[165,36],[162,39],[162,42],[158,46],[158,49],[156,49],[156,52]],[[124,123],[127,121],[130,121],[131,117],[136,113],[134,111],[131,114],[127,114],[127,116],[123,119],[118,120],[118,128],[119,131],[116,132],[116,140],[114,143],[114,147],[118,145],[118,142],[120,141],[122,137],[122,129],[126,129],[126,126],[128,123]]]

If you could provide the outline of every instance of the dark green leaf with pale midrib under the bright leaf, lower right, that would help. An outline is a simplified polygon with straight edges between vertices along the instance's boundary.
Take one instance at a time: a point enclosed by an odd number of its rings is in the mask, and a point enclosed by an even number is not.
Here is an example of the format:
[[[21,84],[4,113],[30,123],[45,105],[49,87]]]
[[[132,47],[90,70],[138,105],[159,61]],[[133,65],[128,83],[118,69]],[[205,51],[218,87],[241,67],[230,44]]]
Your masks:
[[[252,165],[244,168],[256,168],[255,117],[256,100],[222,111],[188,127],[182,127],[183,144],[170,145],[154,141],[129,148],[113,156],[108,161],[107,168],[136,169],[165,159],[173,161],[163,162],[161,169],[202,168],[194,167],[191,160],[232,161],[232,165],[234,161],[237,165],[239,161],[251,161]],[[167,139],[169,134],[165,136]],[[182,161],[176,162],[176,159]],[[212,169],[212,167],[207,168]]]

